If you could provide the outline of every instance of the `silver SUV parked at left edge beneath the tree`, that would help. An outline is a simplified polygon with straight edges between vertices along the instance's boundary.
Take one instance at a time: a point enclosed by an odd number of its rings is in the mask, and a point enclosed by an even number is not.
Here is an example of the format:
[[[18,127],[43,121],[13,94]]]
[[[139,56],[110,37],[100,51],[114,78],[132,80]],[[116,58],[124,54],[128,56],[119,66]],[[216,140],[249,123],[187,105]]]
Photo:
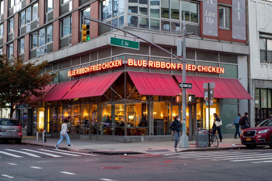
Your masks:
[[[0,118],[0,141],[22,141],[22,127],[17,119]]]

